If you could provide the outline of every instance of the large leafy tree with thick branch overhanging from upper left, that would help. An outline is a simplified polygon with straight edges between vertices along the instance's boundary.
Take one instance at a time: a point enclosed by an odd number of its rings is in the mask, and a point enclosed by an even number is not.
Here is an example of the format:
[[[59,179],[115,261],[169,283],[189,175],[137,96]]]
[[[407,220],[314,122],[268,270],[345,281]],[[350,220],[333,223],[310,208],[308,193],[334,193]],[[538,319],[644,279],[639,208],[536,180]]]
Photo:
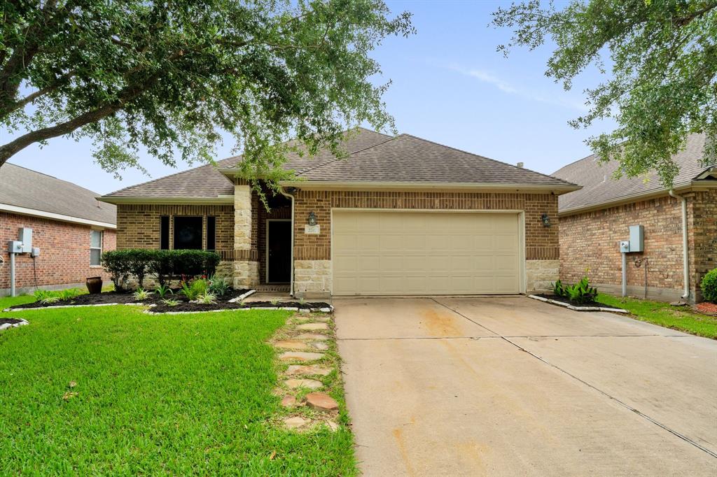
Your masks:
[[[43,0],[0,11],[0,165],[33,143],[92,138],[115,175],[211,162],[222,133],[250,178],[280,174],[287,148],[338,143],[347,127],[393,128],[369,57],[411,34],[382,0]],[[291,135],[298,143],[280,145]],[[7,138],[7,135],[5,136]]]

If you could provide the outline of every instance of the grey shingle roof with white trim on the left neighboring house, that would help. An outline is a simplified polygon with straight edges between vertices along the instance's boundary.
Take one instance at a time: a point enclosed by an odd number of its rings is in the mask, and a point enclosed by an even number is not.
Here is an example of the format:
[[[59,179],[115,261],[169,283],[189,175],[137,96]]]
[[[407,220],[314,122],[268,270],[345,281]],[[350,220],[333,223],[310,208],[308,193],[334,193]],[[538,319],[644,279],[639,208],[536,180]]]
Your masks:
[[[67,180],[19,165],[5,163],[0,167],[0,211],[114,226],[116,207],[98,201],[97,195]]]

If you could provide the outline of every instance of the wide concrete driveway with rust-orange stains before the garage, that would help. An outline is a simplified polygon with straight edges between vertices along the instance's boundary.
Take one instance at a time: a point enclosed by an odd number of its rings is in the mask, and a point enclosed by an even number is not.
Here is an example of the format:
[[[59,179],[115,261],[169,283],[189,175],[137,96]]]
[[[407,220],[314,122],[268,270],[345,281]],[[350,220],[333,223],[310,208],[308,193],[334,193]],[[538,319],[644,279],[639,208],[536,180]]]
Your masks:
[[[366,476],[716,476],[717,342],[526,297],[336,299]]]

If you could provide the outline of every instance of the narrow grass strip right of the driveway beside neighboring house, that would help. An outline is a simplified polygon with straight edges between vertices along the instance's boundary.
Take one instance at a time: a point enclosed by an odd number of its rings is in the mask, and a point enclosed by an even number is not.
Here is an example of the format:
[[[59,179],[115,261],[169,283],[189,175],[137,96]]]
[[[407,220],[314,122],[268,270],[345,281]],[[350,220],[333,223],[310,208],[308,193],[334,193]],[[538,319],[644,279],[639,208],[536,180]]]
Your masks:
[[[672,307],[665,302],[613,297],[602,293],[598,295],[597,301],[609,307],[627,309],[633,318],[643,322],[717,339],[717,317],[695,313],[688,307]]]

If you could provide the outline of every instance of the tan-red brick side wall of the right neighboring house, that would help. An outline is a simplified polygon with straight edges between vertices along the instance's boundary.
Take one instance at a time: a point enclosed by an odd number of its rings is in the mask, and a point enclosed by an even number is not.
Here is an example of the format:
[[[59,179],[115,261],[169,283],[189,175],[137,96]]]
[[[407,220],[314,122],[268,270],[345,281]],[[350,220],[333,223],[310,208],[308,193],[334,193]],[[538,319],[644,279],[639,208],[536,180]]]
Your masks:
[[[716,266],[717,191],[685,193],[688,204],[690,293],[700,296],[699,283]],[[645,251],[628,254],[628,293],[672,301],[683,293],[682,210],[670,196],[627,203],[560,218],[560,277],[570,283],[587,273],[604,291],[619,293],[622,256],[619,241],[629,238],[628,226],[645,226]],[[586,271],[587,270],[587,271]]]

